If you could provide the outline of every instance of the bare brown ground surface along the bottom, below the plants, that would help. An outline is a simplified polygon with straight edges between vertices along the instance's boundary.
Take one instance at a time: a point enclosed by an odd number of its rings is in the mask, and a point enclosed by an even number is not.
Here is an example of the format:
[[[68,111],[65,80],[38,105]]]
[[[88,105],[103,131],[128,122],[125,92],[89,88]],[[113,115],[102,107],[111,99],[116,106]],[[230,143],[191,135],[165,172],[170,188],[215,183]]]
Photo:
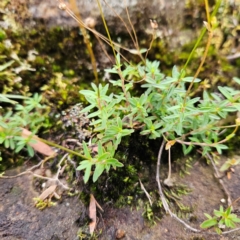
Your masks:
[[[221,162],[226,160],[224,157]],[[23,169],[7,171],[6,175],[14,175]],[[175,176],[178,183],[186,184],[191,193],[182,198],[181,203],[190,206],[193,212],[182,215],[182,219],[192,227],[198,228],[205,220],[203,213],[212,215],[214,209],[219,209],[221,199],[226,199],[218,180],[214,177],[211,165],[197,160],[191,169],[190,175],[180,178]],[[240,195],[240,166],[235,168],[230,180],[223,179],[232,199]],[[42,211],[34,207],[33,198],[40,193],[33,187],[31,176],[21,176],[15,179],[0,179],[0,239],[4,240],[76,240],[77,233],[87,221],[87,206],[79,196],[62,196],[56,206]],[[109,203],[100,203],[104,212],[98,213],[97,236],[93,239],[114,240],[116,236],[123,236],[124,240],[172,240],[172,239],[240,239],[240,232],[228,235],[213,235],[213,230],[193,233],[181,223],[164,215],[155,224],[149,223],[143,217],[143,208],[135,207],[116,208]],[[234,210],[240,207],[237,202]],[[84,222],[85,221],[85,222]],[[122,233],[122,235],[120,234]],[[119,235],[120,234],[120,235]],[[90,238],[82,238],[90,239]]]

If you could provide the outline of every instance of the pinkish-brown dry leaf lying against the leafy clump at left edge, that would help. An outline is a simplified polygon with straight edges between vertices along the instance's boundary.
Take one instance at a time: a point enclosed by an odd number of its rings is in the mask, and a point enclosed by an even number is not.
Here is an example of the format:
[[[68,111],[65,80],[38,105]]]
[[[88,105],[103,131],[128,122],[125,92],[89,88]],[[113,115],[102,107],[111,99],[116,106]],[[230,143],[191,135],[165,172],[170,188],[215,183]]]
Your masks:
[[[22,137],[28,138],[32,132],[28,131],[27,129],[22,129]],[[34,143],[28,143],[35,151],[46,155],[46,156],[54,156],[56,153],[52,150],[50,146],[48,146],[46,143],[41,142],[41,140],[36,136],[33,135],[32,139],[34,140]]]

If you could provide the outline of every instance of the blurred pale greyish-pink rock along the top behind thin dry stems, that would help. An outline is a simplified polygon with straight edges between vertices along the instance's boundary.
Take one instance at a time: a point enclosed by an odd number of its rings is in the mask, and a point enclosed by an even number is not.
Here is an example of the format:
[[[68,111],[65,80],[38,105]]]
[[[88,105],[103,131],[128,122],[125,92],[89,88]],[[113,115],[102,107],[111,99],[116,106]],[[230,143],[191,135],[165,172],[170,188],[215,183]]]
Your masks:
[[[59,1],[37,1],[27,0],[27,8],[34,19],[43,19],[49,26],[77,26],[77,22],[64,10],[59,9]],[[78,9],[72,8],[70,1],[68,6],[75,13],[80,13],[82,19],[93,18],[97,24],[102,25],[98,3],[95,0],[76,0]],[[121,16],[125,23],[130,27],[126,7],[132,24],[136,30],[145,29],[149,25],[149,18],[154,18],[162,24],[170,25],[170,28],[181,26],[183,21],[183,10],[185,1],[180,0],[100,0],[103,14],[109,28],[118,32],[125,31],[124,24],[120,21]]]

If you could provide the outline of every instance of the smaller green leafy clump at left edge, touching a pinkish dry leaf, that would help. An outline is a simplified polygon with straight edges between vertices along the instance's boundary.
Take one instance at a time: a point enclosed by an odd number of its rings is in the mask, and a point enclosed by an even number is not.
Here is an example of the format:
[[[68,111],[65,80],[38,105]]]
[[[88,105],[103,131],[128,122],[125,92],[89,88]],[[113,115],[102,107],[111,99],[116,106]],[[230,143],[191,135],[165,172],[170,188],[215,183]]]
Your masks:
[[[25,99],[23,104],[16,104],[11,98]],[[13,107],[3,111],[0,116],[0,144],[7,149],[20,152],[25,146],[30,156],[34,155],[34,151],[28,143],[33,140],[31,136],[23,137],[23,128],[30,129],[35,134],[38,129],[46,125],[46,107],[40,104],[41,96],[35,94],[33,98],[22,97],[17,95],[1,95],[0,101],[14,103]]]

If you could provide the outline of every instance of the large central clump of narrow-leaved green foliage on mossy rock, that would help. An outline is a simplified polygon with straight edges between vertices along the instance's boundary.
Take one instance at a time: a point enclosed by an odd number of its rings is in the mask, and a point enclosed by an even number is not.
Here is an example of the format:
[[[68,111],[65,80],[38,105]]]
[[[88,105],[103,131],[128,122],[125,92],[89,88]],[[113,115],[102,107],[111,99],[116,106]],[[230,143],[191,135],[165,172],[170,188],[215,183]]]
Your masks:
[[[110,83],[116,88],[121,87],[122,92],[108,94],[109,84],[97,87],[94,83],[92,90],[80,91],[90,104],[82,112],[91,112],[88,117],[92,119],[91,125],[98,133],[95,141],[103,145],[111,142],[115,151],[123,137],[140,128],[140,134],[148,135],[150,139],[164,137],[167,141],[181,143],[184,154],[188,154],[194,146],[201,146],[203,155],[212,148],[221,154],[222,150],[227,149],[223,143],[233,137],[234,133],[221,140],[219,121],[230,112],[240,110],[240,91],[219,86],[219,94],[204,91],[202,97],[190,97],[187,95],[186,83],[198,83],[201,80],[186,77],[176,66],[171,76],[165,76],[159,65],[158,61],[147,60],[145,65],[125,64],[119,72],[122,66],[118,60],[117,66],[106,71],[120,74],[119,80]],[[132,76],[144,79],[141,85],[144,92],[140,96],[132,96],[133,83],[124,84],[124,79]],[[104,167],[97,167],[98,162],[94,164],[97,171],[102,173]],[[86,182],[90,167],[81,163],[79,169],[88,170]],[[99,176],[95,174],[94,180]]]

